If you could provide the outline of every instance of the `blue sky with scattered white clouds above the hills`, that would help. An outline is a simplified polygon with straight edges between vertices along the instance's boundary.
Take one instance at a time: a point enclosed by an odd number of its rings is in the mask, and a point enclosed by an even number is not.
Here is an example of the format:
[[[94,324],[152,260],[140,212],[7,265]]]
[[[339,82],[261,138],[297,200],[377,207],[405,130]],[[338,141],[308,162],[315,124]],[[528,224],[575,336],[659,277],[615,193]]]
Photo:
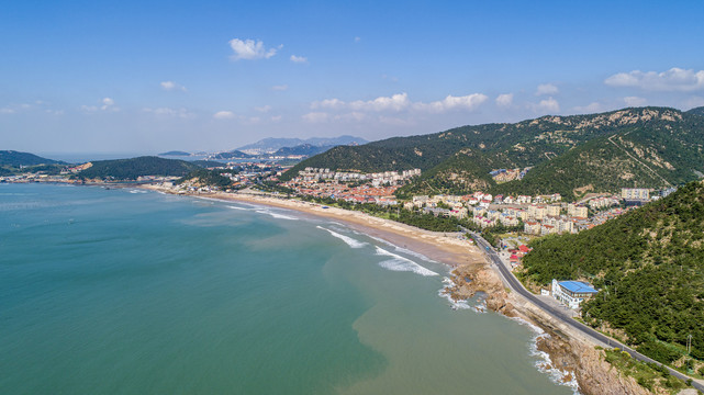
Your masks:
[[[704,2],[14,1],[0,149],[225,150],[704,105]]]

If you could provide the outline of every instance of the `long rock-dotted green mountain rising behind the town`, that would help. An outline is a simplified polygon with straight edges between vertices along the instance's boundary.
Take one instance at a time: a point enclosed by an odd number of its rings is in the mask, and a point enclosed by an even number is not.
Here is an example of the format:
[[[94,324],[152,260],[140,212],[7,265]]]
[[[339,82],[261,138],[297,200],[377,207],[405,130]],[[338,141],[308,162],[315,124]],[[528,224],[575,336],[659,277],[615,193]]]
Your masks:
[[[695,109],[696,110],[696,109]],[[696,111],[668,108],[624,109],[601,114],[543,116],[515,124],[462,126],[423,136],[395,137],[364,146],[340,146],[301,161],[283,174],[305,167],[383,171],[420,168],[449,174],[444,190],[471,192],[479,184],[460,174],[479,168],[533,167],[519,181],[489,183],[495,193],[555,193],[568,198],[588,191],[660,188],[704,174],[704,117]],[[458,162],[455,154],[470,148],[476,160]],[[447,163],[445,163],[448,161]],[[468,169],[463,169],[468,166]],[[451,174],[458,174],[451,177]],[[432,193],[420,178],[406,191]],[[403,193],[403,191],[401,192]]]

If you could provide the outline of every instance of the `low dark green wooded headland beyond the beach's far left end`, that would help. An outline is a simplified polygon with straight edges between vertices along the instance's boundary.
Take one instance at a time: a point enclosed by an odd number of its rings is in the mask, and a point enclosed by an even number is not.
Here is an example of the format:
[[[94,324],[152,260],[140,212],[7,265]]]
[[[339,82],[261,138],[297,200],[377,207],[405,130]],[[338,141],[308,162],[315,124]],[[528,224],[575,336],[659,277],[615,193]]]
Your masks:
[[[164,159],[158,157],[138,157],[131,159],[96,160],[93,166],[79,172],[81,179],[136,180],[141,176],[182,177],[199,166],[185,160]]]

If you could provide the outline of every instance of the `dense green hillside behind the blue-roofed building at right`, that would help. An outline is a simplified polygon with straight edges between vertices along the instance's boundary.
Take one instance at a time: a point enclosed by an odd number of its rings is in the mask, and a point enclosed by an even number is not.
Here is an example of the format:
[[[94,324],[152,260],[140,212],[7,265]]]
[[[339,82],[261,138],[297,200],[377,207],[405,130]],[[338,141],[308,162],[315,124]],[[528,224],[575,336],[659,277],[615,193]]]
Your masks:
[[[672,362],[704,360],[704,183],[577,235],[532,244],[522,276],[532,283],[585,279],[603,290],[582,309],[642,353]]]

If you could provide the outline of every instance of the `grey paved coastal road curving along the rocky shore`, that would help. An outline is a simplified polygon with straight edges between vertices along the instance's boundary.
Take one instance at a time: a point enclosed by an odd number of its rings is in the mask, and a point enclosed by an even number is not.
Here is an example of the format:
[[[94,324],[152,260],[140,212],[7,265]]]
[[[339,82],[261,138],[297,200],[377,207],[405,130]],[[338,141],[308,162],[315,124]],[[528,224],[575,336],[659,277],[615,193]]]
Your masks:
[[[554,306],[550,306],[549,304],[545,303],[544,301],[540,301],[536,295],[534,295],[530,291],[526,290],[523,284],[516,279],[515,275],[509,270],[509,268],[502,262],[501,258],[499,257],[499,253],[496,250],[489,244],[489,241],[484,240],[480,235],[469,232],[474,240],[477,241],[477,245],[487,253],[489,257],[490,261],[492,264],[494,264],[498,269],[499,272],[501,273],[501,276],[503,278],[504,282],[511,287],[512,291],[516,292],[521,296],[525,297],[528,300],[530,303],[534,305],[538,306],[540,309],[552,316],[555,319],[572,327],[573,329],[579,330],[581,334],[585,335],[589,338],[592,338],[603,345],[606,345],[608,347],[618,347],[619,349],[628,352],[630,357],[644,361],[644,362],[652,362],[658,365],[662,365],[660,362],[650,359],[641,353],[639,353],[636,350],[633,350],[632,348],[627,347],[626,345],[623,345],[622,342],[610,338],[608,336],[605,336],[604,334],[601,334],[591,327],[572,319],[567,312],[562,312],[559,308],[555,308]],[[667,366],[666,366],[667,368]],[[681,379],[683,381],[688,381],[692,377],[684,375],[673,369],[668,368],[670,371],[670,374],[673,376]],[[694,386],[696,390],[704,392],[704,385],[701,383],[701,381],[692,381],[692,386]]]

